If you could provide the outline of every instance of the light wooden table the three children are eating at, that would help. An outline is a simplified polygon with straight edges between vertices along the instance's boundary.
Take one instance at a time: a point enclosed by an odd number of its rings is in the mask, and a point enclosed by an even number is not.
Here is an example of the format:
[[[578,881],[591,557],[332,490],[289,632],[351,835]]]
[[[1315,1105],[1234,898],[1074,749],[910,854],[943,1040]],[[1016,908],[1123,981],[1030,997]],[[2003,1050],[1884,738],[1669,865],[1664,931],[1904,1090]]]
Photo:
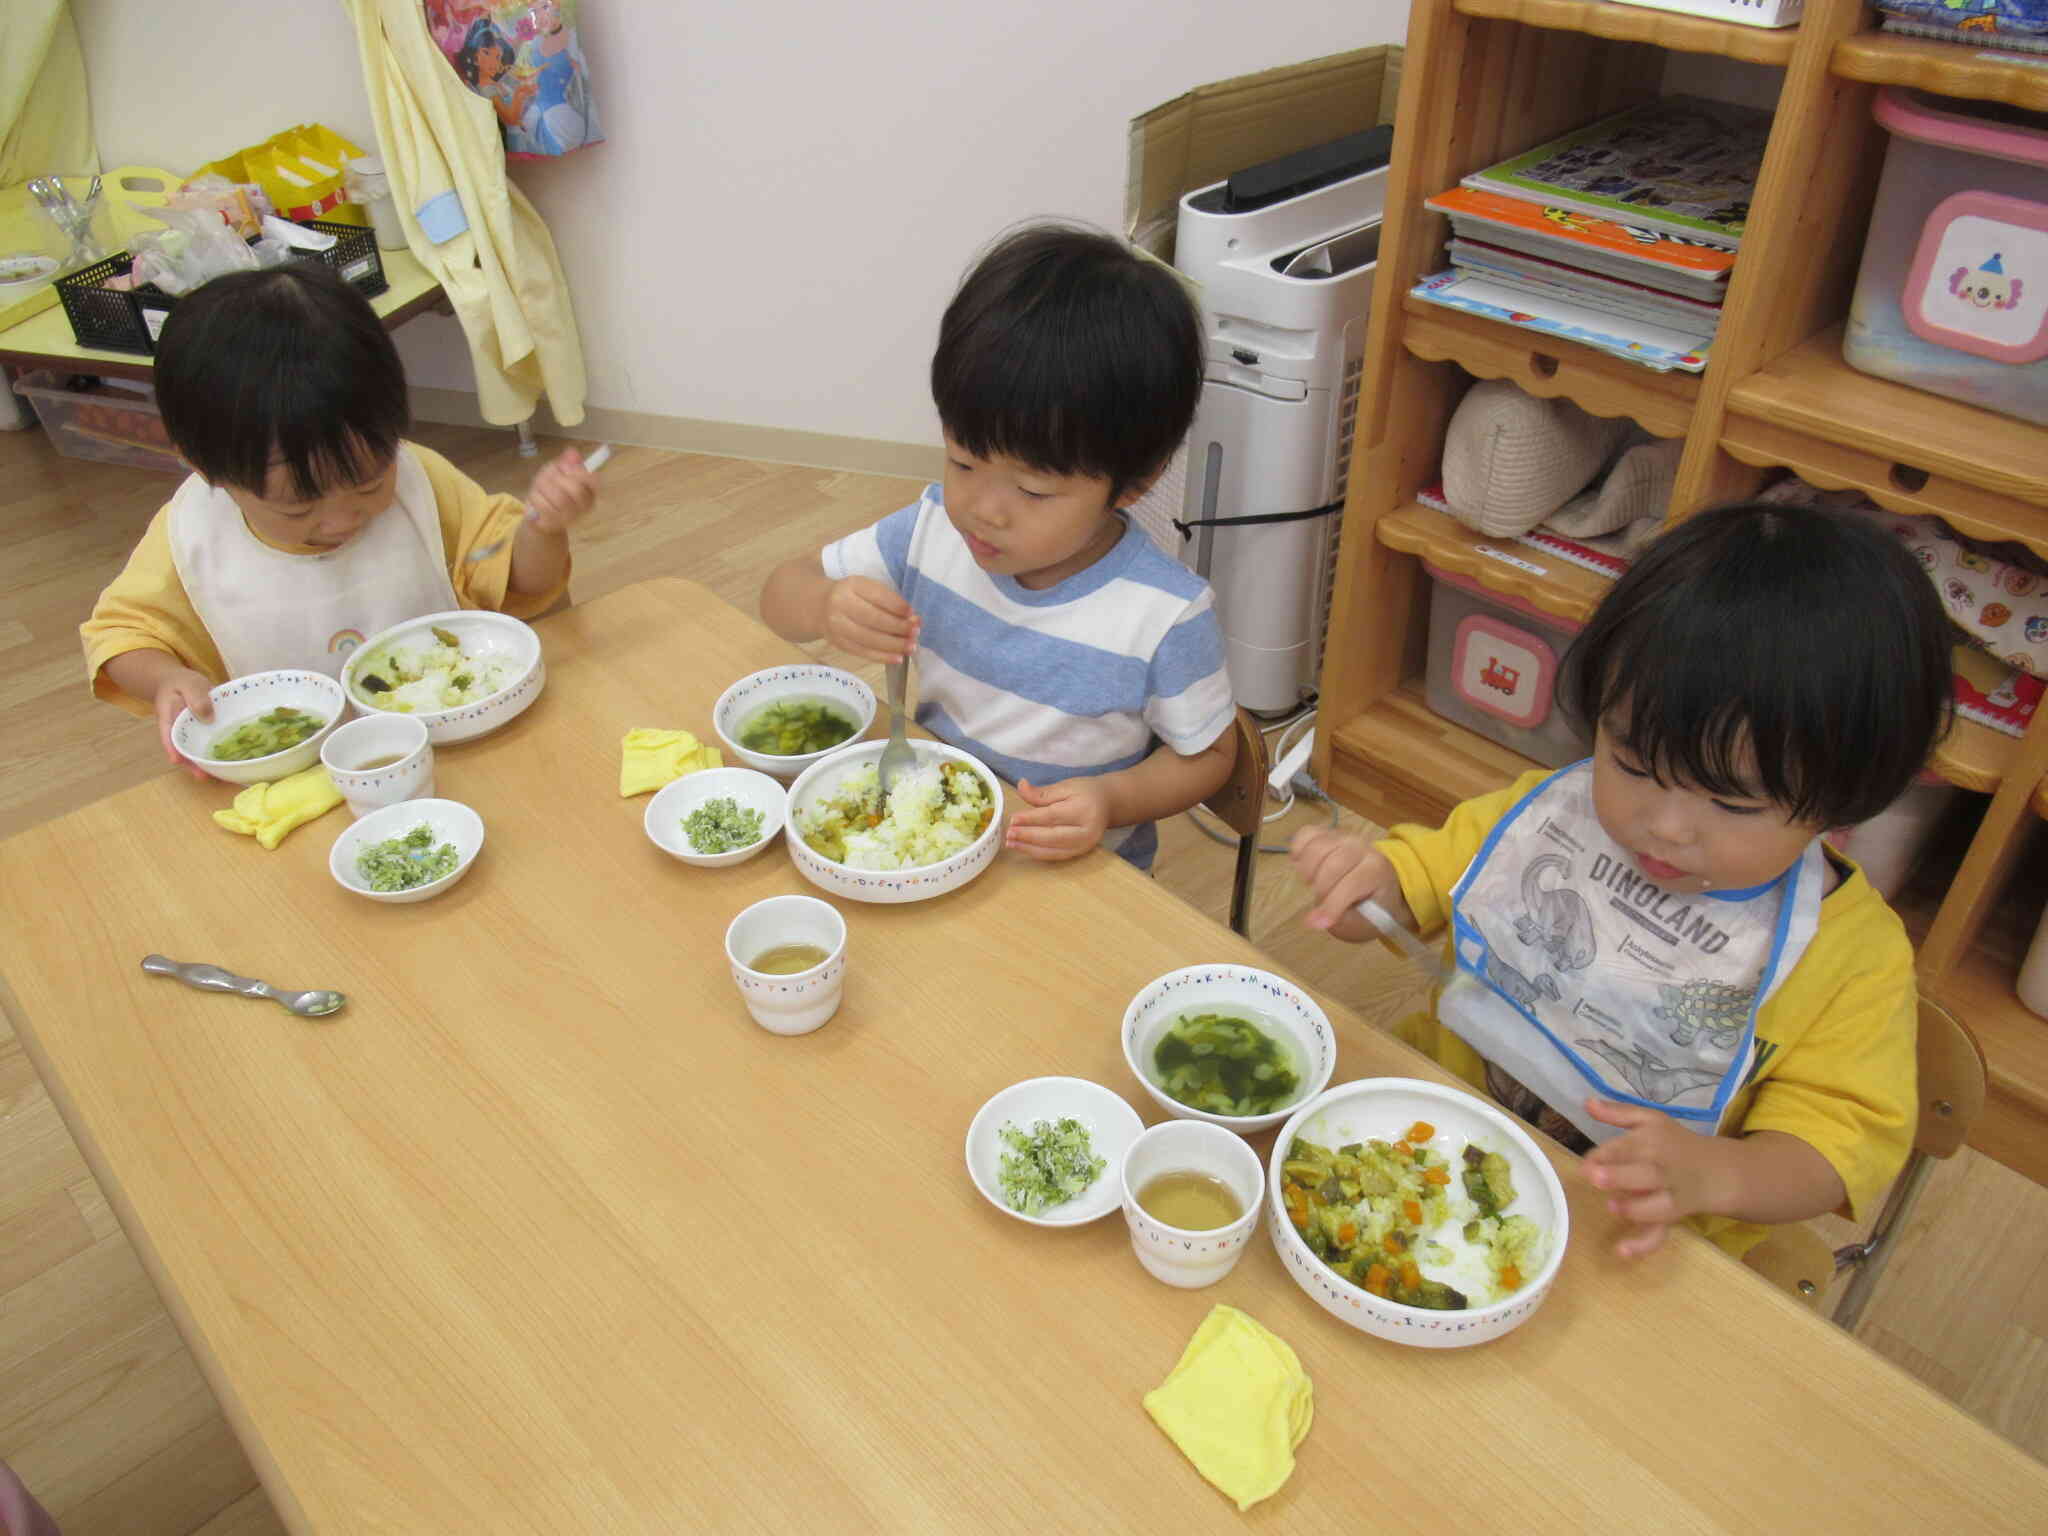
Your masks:
[[[809,887],[655,852],[618,737],[709,733],[791,647],[684,582],[543,637],[541,700],[440,754],[489,842],[438,901],[340,891],[342,811],[262,852],[176,774],[0,846],[6,1008],[293,1530],[1239,1530],[1139,1405],[1214,1303],[1315,1380],[1268,1530],[2040,1528],[2048,1470],[1706,1243],[1614,1260],[1565,1155],[1563,1274],[1473,1350],[1339,1325],[1264,1239],[1182,1292],[1114,1217],[1006,1219],[975,1108],[1075,1073],[1157,1120],[1124,1004],[1257,952],[1114,858],[1001,858],[844,903],[844,1008],[766,1034],[723,928]],[[352,1001],[307,1024],[147,950]],[[1436,1075],[1323,1006],[1337,1081]]]

